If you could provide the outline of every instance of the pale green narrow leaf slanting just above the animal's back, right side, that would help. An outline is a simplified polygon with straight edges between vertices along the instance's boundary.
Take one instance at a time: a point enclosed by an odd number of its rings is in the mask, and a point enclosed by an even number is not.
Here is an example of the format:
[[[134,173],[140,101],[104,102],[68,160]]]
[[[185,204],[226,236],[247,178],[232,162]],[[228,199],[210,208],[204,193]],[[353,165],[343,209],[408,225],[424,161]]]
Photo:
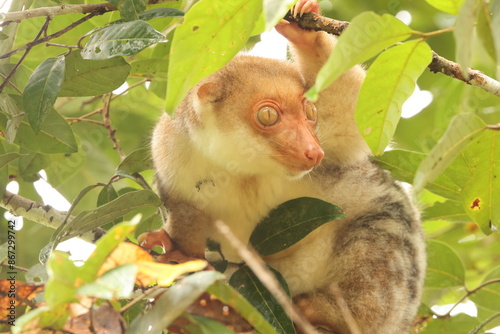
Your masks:
[[[415,192],[420,192],[432,182],[485,128],[484,122],[473,113],[460,113],[453,117],[446,132],[418,167],[413,181]]]

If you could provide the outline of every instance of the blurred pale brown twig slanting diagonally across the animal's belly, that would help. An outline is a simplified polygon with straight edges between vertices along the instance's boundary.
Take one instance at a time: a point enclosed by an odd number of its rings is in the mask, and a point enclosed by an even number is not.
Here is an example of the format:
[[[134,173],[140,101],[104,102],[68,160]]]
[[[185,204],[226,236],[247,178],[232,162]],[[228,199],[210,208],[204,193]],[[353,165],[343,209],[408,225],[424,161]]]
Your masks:
[[[276,277],[267,269],[264,261],[254,251],[251,251],[243,245],[224,222],[217,220],[215,226],[219,233],[238,251],[238,254],[259,278],[262,284],[264,284],[274,298],[283,306],[286,314],[293,320],[300,331],[306,334],[315,333],[311,323],[295,310],[290,298],[288,298],[287,294],[283,291]]]

